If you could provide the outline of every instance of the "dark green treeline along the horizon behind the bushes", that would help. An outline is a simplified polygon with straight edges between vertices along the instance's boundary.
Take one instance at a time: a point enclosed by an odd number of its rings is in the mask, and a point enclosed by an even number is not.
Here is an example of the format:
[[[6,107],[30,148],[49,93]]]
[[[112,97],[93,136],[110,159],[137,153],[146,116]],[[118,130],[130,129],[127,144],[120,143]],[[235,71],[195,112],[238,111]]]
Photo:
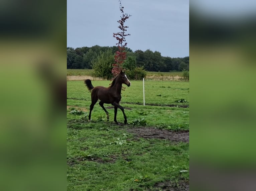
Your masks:
[[[67,47],[67,69],[92,69],[93,60],[97,58],[102,52],[111,50],[113,55],[118,50],[116,46],[113,47],[81,47],[71,48]],[[160,52],[152,52],[151,50],[136,50],[132,51],[126,48],[127,57],[134,57],[136,59],[136,67],[144,67],[147,71],[155,72],[169,72],[189,70],[189,56],[184,58],[163,57]]]

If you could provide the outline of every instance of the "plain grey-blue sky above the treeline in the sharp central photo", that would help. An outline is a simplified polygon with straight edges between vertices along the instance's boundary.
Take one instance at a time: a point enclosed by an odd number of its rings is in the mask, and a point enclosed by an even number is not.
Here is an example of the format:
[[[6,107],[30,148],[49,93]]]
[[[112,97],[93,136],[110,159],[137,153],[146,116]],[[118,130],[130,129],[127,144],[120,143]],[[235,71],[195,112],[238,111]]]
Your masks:
[[[132,15],[125,22],[128,48],[189,56],[188,0],[122,0],[122,6]],[[115,46],[120,16],[118,0],[67,0],[67,47]]]

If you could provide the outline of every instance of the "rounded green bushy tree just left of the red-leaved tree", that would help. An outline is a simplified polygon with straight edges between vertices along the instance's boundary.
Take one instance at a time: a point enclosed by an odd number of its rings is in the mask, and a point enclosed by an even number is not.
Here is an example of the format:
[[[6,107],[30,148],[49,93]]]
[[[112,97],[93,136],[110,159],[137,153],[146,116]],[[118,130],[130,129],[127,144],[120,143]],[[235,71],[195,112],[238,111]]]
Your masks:
[[[94,69],[93,76],[112,79],[112,64],[115,62],[115,56],[111,49],[100,52],[100,54],[92,60],[92,66]]]

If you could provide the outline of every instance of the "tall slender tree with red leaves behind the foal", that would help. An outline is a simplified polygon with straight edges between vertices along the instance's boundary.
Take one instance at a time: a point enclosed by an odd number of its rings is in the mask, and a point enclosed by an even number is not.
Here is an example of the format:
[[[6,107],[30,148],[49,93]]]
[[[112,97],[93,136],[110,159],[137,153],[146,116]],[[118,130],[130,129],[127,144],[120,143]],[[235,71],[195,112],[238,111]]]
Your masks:
[[[116,43],[118,47],[118,51],[116,51],[115,54],[115,64],[113,64],[113,69],[112,69],[112,74],[114,77],[116,77],[122,68],[122,65],[126,59],[126,51],[125,48],[127,46],[127,43],[125,42],[125,37],[130,36],[130,34],[126,34],[125,32],[127,31],[128,26],[124,26],[125,21],[131,16],[128,15],[127,13],[124,13],[124,7],[122,6],[121,0],[119,0],[119,8],[122,13],[122,16],[120,20],[117,22],[120,24],[118,28],[121,30],[121,32],[118,33],[113,33],[113,37],[118,40],[118,43]]]

